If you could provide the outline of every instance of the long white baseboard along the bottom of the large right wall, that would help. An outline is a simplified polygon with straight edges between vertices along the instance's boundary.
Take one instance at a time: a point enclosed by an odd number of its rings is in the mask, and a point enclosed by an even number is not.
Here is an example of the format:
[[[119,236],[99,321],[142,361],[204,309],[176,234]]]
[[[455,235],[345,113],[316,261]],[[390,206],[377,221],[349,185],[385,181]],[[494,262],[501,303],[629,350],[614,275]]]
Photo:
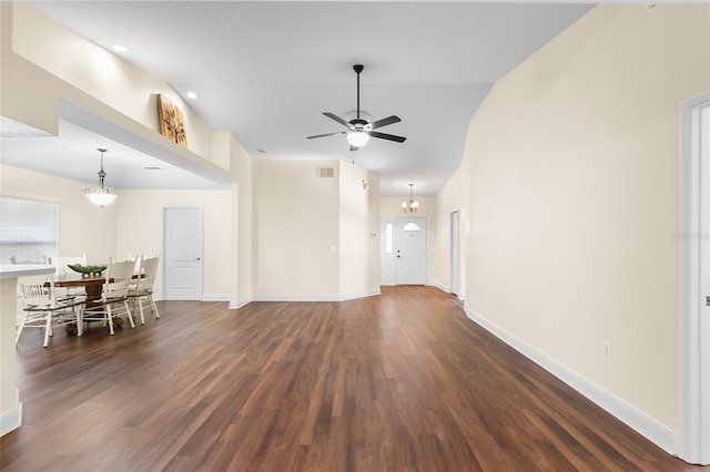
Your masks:
[[[464,310],[466,311],[466,316],[473,321],[480,325],[515,350],[615,415],[663,451],[671,455],[677,454],[676,444],[678,438],[672,431],[661,424],[658,424],[651,418],[625,403],[610,392],[590,382],[579,373],[559,363],[555,359],[500,328],[498,325],[473,311],[468,306],[464,305]]]

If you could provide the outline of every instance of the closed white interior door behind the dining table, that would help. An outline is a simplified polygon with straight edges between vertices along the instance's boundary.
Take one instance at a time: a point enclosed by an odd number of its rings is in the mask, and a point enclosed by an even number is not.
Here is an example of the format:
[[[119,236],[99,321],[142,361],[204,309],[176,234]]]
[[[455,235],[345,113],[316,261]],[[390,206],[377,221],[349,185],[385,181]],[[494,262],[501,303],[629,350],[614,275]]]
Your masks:
[[[202,209],[165,208],[165,300],[202,300]]]

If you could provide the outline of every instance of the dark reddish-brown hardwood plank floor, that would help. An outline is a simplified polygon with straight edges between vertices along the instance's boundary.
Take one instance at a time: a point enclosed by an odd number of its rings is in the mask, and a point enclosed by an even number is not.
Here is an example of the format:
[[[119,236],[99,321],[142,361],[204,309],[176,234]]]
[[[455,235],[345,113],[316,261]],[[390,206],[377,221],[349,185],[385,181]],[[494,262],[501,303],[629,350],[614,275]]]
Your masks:
[[[687,471],[432,287],[159,302],[18,347],[3,471]]]

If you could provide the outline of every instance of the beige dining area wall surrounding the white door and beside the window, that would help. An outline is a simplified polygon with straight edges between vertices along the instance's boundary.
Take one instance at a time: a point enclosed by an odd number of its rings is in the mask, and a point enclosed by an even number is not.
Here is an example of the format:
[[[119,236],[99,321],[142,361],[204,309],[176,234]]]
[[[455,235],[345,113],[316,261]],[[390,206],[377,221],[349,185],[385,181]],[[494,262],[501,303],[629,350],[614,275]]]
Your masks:
[[[105,263],[109,256],[126,258],[163,252],[163,209],[200,207],[204,225],[205,299],[230,298],[231,218],[230,191],[118,191],[116,201],[103,208],[83,195],[83,182],[0,166],[0,193],[59,203],[59,255],[87,254],[91,264]],[[162,268],[161,268],[162,270]],[[155,284],[162,298],[162,273]]]

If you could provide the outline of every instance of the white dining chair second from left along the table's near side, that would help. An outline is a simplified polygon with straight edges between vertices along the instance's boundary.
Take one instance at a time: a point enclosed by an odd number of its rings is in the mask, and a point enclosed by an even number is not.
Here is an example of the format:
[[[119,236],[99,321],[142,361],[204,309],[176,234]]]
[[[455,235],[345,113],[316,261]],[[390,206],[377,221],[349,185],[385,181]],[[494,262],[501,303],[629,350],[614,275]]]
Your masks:
[[[113,324],[123,315],[126,316],[132,328],[135,328],[131,309],[129,308],[129,287],[133,277],[134,260],[113,261],[109,258],[105,270],[105,281],[101,289],[101,298],[84,310],[83,321],[103,321],[109,325],[109,332],[113,336]],[[114,321],[116,320],[116,321]]]

